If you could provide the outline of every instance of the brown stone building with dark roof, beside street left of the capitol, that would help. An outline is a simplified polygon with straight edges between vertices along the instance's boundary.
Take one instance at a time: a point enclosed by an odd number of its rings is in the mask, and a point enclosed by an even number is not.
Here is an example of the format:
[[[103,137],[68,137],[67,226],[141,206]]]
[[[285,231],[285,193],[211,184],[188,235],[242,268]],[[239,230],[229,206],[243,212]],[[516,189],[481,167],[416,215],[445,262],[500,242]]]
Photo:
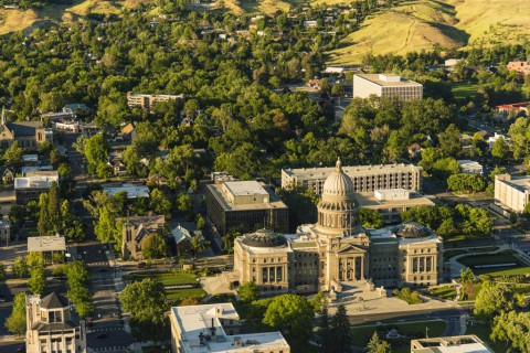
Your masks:
[[[125,221],[121,227],[121,255],[124,260],[142,259],[142,247],[149,236],[165,236],[166,218],[161,215],[118,217],[116,222]]]

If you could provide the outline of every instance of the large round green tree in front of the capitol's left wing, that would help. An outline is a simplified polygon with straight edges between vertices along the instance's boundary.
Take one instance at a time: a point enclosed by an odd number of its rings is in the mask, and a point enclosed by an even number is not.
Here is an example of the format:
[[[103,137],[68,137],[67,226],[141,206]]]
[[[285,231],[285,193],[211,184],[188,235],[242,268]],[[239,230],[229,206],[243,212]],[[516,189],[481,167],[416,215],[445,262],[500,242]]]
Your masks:
[[[315,312],[306,298],[296,295],[275,297],[265,312],[263,323],[282,331],[295,345],[309,340]]]

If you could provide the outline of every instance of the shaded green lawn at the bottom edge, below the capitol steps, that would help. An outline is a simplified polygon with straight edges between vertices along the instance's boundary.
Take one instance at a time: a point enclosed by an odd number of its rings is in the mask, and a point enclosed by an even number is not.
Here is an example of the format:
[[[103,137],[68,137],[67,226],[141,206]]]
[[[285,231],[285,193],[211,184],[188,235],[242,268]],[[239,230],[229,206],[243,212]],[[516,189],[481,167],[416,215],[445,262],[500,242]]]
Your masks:
[[[441,336],[445,332],[445,322],[442,320],[436,321],[424,321],[424,322],[390,322],[383,323],[381,325],[354,325],[352,330],[352,342],[356,342],[356,346],[367,346],[368,341],[372,336],[373,332],[379,328],[380,334],[379,338],[384,339],[384,334],[392,329],[396,329],[398,332],[402,335],[406,335],[409,339],[417,339],[425,336],[425,328],[428,328],[430,336]],[[382,332],[384,331],[384,332]],[[392,346],[392,352],[410,352],[411,345],[410,342],[407,345]]]

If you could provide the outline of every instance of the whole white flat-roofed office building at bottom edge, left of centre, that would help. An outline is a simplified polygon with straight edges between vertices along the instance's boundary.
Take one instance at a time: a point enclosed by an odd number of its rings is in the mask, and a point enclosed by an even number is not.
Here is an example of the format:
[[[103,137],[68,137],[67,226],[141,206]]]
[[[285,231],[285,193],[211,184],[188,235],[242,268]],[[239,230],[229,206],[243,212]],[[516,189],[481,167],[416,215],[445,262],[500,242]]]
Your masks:
[[[171,351],[176,353],[289,353],[279,332],[240,333],[232,303],[171,308]]]

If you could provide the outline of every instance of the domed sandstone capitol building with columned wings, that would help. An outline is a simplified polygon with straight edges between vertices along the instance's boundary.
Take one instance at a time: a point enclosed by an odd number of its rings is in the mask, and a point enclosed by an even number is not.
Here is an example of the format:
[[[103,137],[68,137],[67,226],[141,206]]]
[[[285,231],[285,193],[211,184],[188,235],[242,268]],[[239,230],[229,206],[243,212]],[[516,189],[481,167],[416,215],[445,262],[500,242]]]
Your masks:
[[[342,291],[342,285],[437,285],[443,243],[416,222],[365,229],[353,182],[340,160],[324,183],[316,224],[296,234],[259,229],[235,239],[232,285],[254,281],[264,295]]]

